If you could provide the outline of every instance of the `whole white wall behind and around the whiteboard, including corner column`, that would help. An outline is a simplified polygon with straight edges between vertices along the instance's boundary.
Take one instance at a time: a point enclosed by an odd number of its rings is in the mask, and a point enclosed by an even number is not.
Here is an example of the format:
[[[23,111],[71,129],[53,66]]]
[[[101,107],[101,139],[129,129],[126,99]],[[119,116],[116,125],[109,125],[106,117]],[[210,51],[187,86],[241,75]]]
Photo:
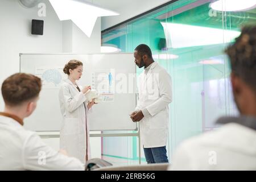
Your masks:
[[[100,52],[101,19],[88,38],[70,20],[61,22],[48,0],[46,16],[38,16],[38,7],[24,8],[18,0],[0,0],[0,85],[6,77],[19,72],[19,53]],[[44,20],[44,35],[31,35],[31,20]],[[2,94],[1,94],[2,95]],[[4,103],[0,96],[0,111]],[[45,133],[48,135],[48,133]],[[59,150],[59,138],[43,139]],[[101,140],[93,138],[92,156],[100,158]]]

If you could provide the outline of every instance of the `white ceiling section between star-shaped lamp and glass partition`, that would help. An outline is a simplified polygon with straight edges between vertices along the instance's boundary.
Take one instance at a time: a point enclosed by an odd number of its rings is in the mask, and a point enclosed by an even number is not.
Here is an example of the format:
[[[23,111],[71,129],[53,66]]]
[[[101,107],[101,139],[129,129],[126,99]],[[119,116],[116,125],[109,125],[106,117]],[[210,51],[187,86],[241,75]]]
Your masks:
[[[101,18],[101,30],[112,27],[136,15],[142,14],[154,7],[163,5],[170,0],[87,0],[98,6],[117,11],[118,16]]]

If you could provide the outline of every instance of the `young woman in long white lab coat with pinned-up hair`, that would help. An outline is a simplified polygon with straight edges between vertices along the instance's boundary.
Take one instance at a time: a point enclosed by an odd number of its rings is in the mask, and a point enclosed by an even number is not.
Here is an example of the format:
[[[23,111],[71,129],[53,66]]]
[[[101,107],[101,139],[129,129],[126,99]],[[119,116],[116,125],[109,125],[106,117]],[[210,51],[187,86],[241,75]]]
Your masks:
[[[90,86],[82,88],[76,82],[82,76],[81,61],[69,61],[63,71],[68,75],[68,79],[64,81],[59,92],[60,110],[63,115],[60,149],[85,163],[90,159],[88,113],[95,103],[94,100],[88,104],[86,102],[85,93]]]

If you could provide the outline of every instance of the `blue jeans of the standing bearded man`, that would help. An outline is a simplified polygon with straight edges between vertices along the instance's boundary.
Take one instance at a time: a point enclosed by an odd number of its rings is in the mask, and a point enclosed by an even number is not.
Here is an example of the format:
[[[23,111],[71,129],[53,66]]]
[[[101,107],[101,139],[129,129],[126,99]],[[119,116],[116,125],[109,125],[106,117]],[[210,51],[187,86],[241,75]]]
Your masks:
[[[144,155],[148,164],[151,163],[168,163],[168,157],[166,155],[166,146],[143,148]]]

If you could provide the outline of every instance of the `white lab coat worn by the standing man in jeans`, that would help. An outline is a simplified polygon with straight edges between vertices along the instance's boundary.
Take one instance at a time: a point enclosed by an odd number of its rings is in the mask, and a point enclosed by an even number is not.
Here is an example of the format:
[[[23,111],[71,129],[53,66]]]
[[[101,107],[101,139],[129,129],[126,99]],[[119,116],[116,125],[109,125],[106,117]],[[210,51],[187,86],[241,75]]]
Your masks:
[[[148,73],[138,77],[139,100],[135,110],[147,109],[150,115],[142,118],[141,142],[144,148],[166,146],[168,139],[169,108],[172,101],[171,76],[152,63]]]

